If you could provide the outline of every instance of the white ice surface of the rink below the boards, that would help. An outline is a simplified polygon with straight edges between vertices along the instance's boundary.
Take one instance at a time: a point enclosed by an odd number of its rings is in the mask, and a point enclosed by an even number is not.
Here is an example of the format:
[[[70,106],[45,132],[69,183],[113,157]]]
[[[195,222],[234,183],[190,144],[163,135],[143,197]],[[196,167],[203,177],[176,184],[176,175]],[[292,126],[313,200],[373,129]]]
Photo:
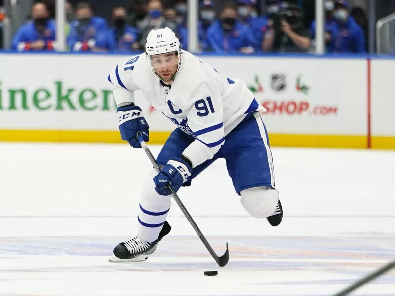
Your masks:
[[[275,228],[248,216],[225,163],[215,162],[179,195],[218,254],[229,243],[224,268],[175,203],[172,232],[153,257],[107,261],[134,234],[151,169],[141,149],[3,143],[0,151],[2,296],[329,296],[395,259],[393,151],[273,148],[285,212]],[[395,272],[352,295],[395,296]]]

